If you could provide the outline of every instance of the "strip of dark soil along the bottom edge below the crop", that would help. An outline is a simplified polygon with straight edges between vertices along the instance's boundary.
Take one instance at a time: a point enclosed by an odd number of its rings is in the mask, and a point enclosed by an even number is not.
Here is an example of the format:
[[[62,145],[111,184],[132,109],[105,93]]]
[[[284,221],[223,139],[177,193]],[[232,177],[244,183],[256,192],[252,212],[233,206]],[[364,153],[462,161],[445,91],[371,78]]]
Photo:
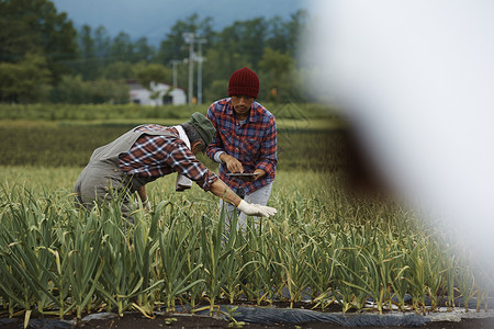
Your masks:
[[[274,309],[287,310],[289,309],[288,303],[277,303]],[[310,304],[294,304],[293,309],[311,309],[307,307]],[[238,304],[238,306],[252,306],[246,304]],[[325,309],[326,314],[332,315],[341,315],[341,307],[332,304]],[[206,314],[206,313],[204,313]],[[242,314],[242,311],[240,311]],[[256,313],[257,314],[257,313]],[[355,314],[353,310],[349,310],[347,315]],[[371,315],[368,313],[368,315]],[[385,313],[386,314],[386,313]],[[259,314],[258,314],[259,315]],[[274,316],[274,314],[272,314]],[[287,319],[285,313],[283,313],[283,319]],[[366,315],[366,313],[363,313]],[[390,313],[388,313],[390,315]],[[433,320],[426,322],[424,326],[413,327],[413,328],[425,328],[425,329],[494,329],[494,311],[490,309],[487,313],[476,313],[474,310],[464,313],[460,308],[453,313],[430,313],[427,316],[435,319],[445,319],[445,317],[440,316],[449,316],[449,319],[457,319],[458,321],[449,320],[449,321],[438,321]],[[304,324],[293,324],[293,322],[279,322],[274,325],[260,325],[260,324],[251,324],[247,322],[243,326],[235,327],[232,321],[224,319],[224,317],[217,316],[204,316],[204,315],[191,315],[187,313],[175,313],[175,314],[166,314],[166,313],[157,313],[155,314],[155,318],[146,318],[141,313],[132,311],[125,313],[123,317],[119,317],[116,314],[93,314],[90,316],[83,315],[83,319],[88,319],[92,317],[90,320],[83,321],[74,321],[72,318],[67,317],[67,321],[59,321],[57,319],[34,319],[33,322],[30,322],[27,328],[31,329],[162,329],[162,328],[245,328],[245,329],[268,329],[268,328],[293,328],[293,329],[343,329],[343,328],[351,328],[347,326],[341,326],[339,324],[332,322],[304,322]],[[461,320],[460,320],[461,317]],[[261,317],[262,318],[262,317]],[[15,318],[13,321],[5,324],[4,320],[9,320],[5,318],[0,318],[0,327],[1,329],[19,329],[23,328],[23,318]],[[74,322],[76,322],[74,325]],[[403,329],[411,328],[405,326],[364,326],[366,329]]]

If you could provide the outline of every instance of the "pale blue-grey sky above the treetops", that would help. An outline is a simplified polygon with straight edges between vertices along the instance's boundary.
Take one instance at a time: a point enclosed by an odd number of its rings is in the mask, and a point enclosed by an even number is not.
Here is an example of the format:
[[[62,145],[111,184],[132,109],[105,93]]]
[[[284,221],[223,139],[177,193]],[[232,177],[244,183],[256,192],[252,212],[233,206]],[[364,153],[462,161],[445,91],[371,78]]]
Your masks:
[[[213,18],[214,30],[263,16],[284,20],[299,9],[308,10],[308,0],[52,0],[58,12],[67,12],[76,29],[103,25],[111,36],[125,32],[132,38],[146,36],[159,43],[178,21],[193,13]]]

